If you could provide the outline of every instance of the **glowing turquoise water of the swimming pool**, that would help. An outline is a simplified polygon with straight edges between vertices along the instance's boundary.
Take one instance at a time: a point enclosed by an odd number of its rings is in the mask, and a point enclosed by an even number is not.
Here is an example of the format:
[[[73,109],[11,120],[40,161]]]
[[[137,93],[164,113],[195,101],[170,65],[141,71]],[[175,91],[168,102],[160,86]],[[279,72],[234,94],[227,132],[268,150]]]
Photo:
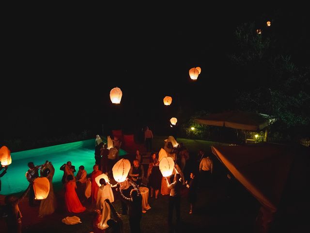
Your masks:
[[[1,195],[19,193],[24,191],[29,183],[26,179],[26,171],[29,169],[28,162],[34,165],[42,165],[46,160],[51,161],[55,167],[53,184],[55,187],[61,186],[63,171],[59,168],[67,161],[71,161],[76,167],[83,165],[87,174],[93,171],[94,159],[94,139],[66,143],[57,146],[24,150],[11,153],[12,164],[9,165],[7,173],[1,178]],[[124,150],[120,150],[120,156],[125,155]]]

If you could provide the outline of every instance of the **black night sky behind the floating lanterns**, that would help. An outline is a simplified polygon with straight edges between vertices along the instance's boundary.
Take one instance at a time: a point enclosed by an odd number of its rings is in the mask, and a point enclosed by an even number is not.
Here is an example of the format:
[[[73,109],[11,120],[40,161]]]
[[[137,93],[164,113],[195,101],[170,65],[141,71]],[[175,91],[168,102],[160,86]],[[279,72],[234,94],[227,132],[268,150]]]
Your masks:
[[[237,109],[236,90],[257,84],[244,83],[227,57],[241,23],[263,28],[271,20],[285,52],[309,62],[306,8],[244,7],[12,15],[3,44],[1,139],[100,133],[102,124],[131,132],[149,125],[156,133],[180,107],[184,118]],[[202,68],[196,82],[192,67]],[[119,106],[109,100],[116,86]]]

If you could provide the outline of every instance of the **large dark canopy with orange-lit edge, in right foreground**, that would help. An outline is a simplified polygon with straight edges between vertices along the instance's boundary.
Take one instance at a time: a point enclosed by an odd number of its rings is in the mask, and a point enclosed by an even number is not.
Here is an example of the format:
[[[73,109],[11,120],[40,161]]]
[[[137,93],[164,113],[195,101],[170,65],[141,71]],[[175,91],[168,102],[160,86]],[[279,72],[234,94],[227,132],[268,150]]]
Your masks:
[[[233,176],[271,212],[277,211],[289,176],[294,157],[291,151],[269,143],[212,147]]]

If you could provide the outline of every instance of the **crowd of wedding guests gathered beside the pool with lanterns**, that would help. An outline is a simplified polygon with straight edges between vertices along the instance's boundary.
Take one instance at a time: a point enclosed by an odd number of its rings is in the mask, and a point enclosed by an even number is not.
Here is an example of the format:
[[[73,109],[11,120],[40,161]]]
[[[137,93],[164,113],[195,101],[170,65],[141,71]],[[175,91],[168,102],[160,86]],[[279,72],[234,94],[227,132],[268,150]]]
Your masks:
[[[153,137],[153,135],[152,135]],[[99,144],[98,144],[99,143]],[[112,165],[114,165],[118,156],[118,151],[114,154],[115,161],[109,162],[109,150],[107,144],[98,141],[95,148],[95,161],[93,171],[87,174],[84,166],[79,166],[78,173],[75,175],[76,169],[71,161],[63,164],[60,170],[63,171],[62,183],[65,189],[64,202],[65,208],[69,213],[81,213],[86,210],[82,204],[87,199],[86,190],[91,190],[91,202],[96,216],[93,219],[93,232],[103,233],[106,229],[111,229],[111,232],[123,232],[123,220],[117,213],[112,202],[114,202],[114,194],[112,188],[116,188],[119,195],[117,198],[121,200],[122,215],[128,215],[129,225],[132,233],[140,232],[140,220],[142,217],[142,196],[140,193],[140,185],[145,177],[147,186],[150,188],[150,198],[158,199],[159,194],[169,195],[168,206],[168,224],[172,227],[173,210],[175,209],[176,221],[180,222],[180,204],[182,190],[186,189],[187,198],[189,201],[189,214],[193,214],[195,203],[197,201],[197,187],[209,183],[213,172],[213,162],[211,158],[205,155],[203,150],[199,150],[196,162],[197,169],[190,168],[189,176],[185,175],[186,161],[189,158],[188,151],[181,144],[177,148],[172,148],[170,151],[175,152],[175,167],[171,177],[163,177],[159,169],[158,154],[151,153],[149,167],[144,173],[144,167],[141,164],[141,154],[137,150],[136,158],[128,173],[128,177],[124,182],[111,185],[109,181],[100,179],[100,186],[96,183],[96,177],[105,173],[111,175]],[[170,146],[171,147],[171,146]],[[167,145],[169,148],[169,145]],[[99,151],[99,152],[98,152]],[[99,154],[99,156],[98,156]],[[111,159],[111,158],[110,158]],[[18,202],[22,200],[27,193],[29,194],[29,205],[35,206],[33,182],[37,177],[46,177],[50,183],[50,191],[46,199],[40,201],[39,216],[44,217],[51,215],[56,209],[56,197],[53,191],[53,176],[55,168],[50,161],[46,161],[43,165],[35,166],[33,162],[28,163],[28,171],[26,178],[29,182],[27,190],[19,197],[15,198],[8,195],[5,198],[5,213],[7,215],[7,226],[14,229],[12,232],[21,231],[21,213],[18,208]],[[0,175],[4,175],[7,167]],[[200,183],[198,183],[198,177]],[[178,225],[178,224],[177,224]]]

